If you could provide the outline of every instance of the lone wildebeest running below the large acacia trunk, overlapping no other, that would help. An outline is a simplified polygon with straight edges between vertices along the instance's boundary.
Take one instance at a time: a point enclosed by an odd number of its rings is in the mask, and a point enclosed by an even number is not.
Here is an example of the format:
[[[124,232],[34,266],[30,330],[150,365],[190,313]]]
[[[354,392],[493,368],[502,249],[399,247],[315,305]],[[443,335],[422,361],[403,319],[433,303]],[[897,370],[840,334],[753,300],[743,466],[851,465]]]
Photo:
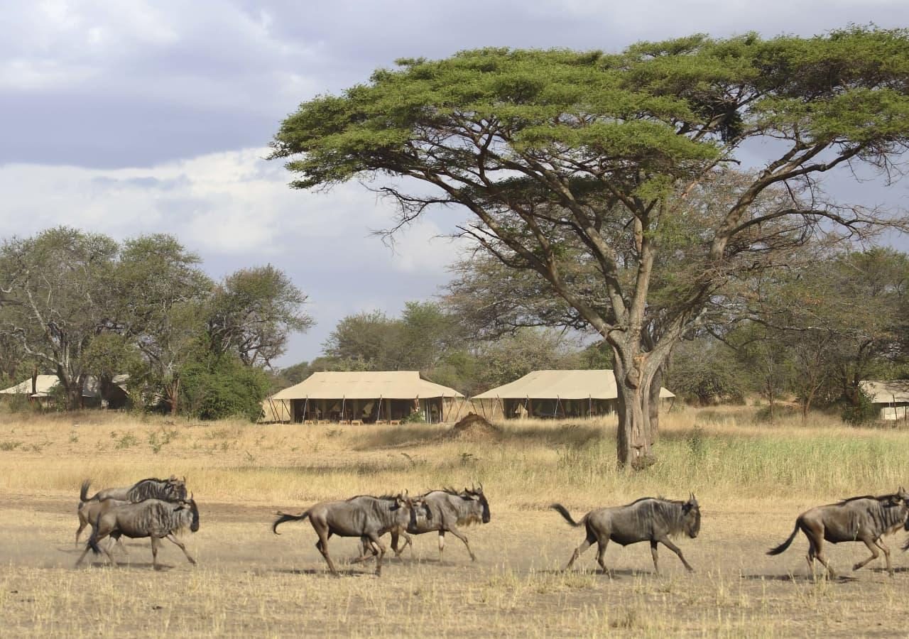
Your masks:
[[[580,522],[575,522],[562,504],[553,504],[550,507],[562,514],[569,524],[574,527],[584,525],[587,530],[584,542],[574,549],[565,570],[570,570],[574,561],[595,542],[596,561],[603,568],[603,572],[607,572],[603,557],[606,553],[606,544],[614,541],[622,545],[650,542],[650,554],[654,558],[656,574],[660,573],[656,544],[663,544],[669,548],[678,555],[689,572],[694,572],[694,568],[685,561],[682,551],[669,539],[678,534],[687,534],[694,539],[701,531],[701,510],[694,494],[684,502],[642,497],[628,505],[592,510],[585,514]]]

